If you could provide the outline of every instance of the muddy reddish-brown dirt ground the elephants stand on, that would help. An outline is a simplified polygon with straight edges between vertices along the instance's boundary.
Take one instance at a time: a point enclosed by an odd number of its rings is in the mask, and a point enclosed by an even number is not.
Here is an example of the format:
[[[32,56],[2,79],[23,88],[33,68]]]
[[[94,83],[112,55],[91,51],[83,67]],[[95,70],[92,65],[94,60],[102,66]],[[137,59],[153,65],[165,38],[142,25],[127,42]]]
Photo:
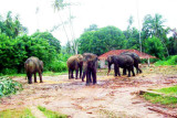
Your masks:
[[[0,110],[40,105],[71,118],[170,118],[170,114],[177,115],[176,105],[154,105],[137,96],[140,89],[177,85],[177,66],[142,68],[143,74],[135,77],[114,77],[113,69],[106,76],[106,69],[98,69],[97,85],[91,86],[85,86],[81,79],[69,79],[67,75],[43,76],[44,83],[32,85],[27,84],[24,77],[14,77],[23,84],[23,90],[1,98]]]

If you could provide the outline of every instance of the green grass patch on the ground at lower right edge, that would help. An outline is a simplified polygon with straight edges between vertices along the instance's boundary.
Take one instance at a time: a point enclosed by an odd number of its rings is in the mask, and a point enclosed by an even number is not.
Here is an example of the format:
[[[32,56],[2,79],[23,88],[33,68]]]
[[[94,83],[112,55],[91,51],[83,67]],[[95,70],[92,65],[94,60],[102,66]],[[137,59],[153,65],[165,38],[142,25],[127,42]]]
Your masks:
[[[144,97],[146,100],[152,101],[153,104],[162,104],[162,105],[170,105],[170,104],[177,104],[177,98],[176,97],[163,97],[160,95],[157,94],[150,94],[150,93],[146,93],[144,94]]]

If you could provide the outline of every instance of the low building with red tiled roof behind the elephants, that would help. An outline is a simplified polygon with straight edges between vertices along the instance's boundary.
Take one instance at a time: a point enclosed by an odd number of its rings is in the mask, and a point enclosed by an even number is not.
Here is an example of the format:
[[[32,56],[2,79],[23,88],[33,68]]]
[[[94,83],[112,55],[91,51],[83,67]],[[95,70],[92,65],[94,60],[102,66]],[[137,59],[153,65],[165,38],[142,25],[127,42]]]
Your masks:
[[[119,55],[121,53],[124,53],[124,52],[136,53],[140,58],[147,58],[148,63],[149,63],[149,58],[156,58],[155,56],[152,56],[149,54],[139,52],[137,50],[112,50],[112,51],[110,51],[107,53],[104,53],[104,54],[98,56],[101,68],[106,68],[105,61],[110,55]]]

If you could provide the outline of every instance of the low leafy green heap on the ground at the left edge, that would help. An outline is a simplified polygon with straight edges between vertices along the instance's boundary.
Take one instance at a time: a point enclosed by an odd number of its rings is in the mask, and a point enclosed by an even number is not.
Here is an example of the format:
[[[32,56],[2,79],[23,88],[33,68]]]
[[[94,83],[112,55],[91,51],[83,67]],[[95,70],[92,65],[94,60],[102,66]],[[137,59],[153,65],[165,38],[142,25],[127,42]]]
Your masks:
[[[0,77],[0,97],[15,94],[18,90],[22,89],[22,85],[18,82],[12,81],[9,77]]]

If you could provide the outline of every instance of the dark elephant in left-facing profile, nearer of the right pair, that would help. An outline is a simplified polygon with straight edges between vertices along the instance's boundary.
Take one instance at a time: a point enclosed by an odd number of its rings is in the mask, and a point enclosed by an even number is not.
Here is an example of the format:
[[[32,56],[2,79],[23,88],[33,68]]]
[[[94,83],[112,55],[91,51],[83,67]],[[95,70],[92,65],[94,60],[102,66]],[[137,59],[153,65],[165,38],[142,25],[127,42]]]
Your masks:
[[[131,72],[133,73],[133,76],[135,76],[134,73],[134,60],[129,55],[111,55],[107,57],[108,63],[108,72],[111,71],[111,65],[114,64],[114,73],[115,76],[121,76],[119,67],[128,69],[128,77],[131,77]]]

